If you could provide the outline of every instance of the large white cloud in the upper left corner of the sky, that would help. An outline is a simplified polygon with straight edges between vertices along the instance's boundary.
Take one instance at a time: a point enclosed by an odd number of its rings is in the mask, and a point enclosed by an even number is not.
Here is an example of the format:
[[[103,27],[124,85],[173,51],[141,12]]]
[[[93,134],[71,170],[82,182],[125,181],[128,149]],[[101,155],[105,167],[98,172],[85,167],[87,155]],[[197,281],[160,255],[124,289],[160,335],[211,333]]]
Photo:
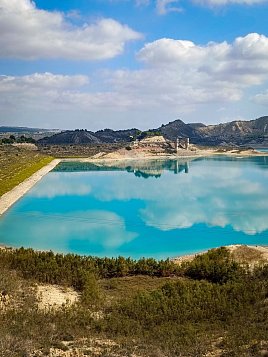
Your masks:
[[[121,54],[126,42],[141,37],[113,19],[77,27],[67,17],[40,10],[31,0],[0,0],[0,56],[103,60]]]

